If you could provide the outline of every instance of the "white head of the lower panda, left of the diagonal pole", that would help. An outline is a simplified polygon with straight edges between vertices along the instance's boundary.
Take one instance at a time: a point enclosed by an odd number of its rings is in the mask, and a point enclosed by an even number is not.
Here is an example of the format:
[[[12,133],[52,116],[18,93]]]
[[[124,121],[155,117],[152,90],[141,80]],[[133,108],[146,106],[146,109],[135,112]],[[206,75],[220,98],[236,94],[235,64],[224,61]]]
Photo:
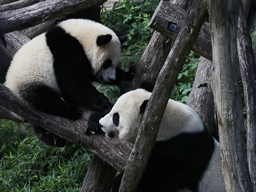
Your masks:
[[[151,92],[142,88],[120,96],[112,110],[100,119],[106,136],[134,143],[150,96]]]

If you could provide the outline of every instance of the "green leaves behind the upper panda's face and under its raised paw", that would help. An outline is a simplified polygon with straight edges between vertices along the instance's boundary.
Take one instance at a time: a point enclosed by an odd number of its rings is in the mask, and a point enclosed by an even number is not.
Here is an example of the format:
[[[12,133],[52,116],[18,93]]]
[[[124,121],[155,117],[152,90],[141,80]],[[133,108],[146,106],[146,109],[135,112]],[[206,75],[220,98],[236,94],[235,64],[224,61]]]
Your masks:
[[[122,57],[119,62],[126,71],[130,65],[136,65],[139,62],[154,33],[148,24],[158,3],[158,0],[124,0],[116,4],[112,11],[105,11],[102,14],[101,19],[104,25],[114,30],[118,36],[128,36],[128,40],[121,46]],[[112,101],[120,96],[119,88],[114,86],[98,88]]]

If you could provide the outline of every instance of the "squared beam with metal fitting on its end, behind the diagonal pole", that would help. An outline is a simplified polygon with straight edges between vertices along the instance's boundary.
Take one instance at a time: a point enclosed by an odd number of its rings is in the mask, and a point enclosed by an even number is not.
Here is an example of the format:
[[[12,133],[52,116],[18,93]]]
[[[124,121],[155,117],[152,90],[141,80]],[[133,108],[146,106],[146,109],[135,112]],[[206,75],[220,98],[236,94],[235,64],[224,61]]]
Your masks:
[[[169,1],[164,1],[157,9],[160,13],[152,16],[149,24],[150,28],[153,28],[174,41],[183,25],[186,11],[174,4],[170,4]],[[177,24],[176,31],[168,29],[170,22]],[[209,23],[205,22],[203,24],[192,50],[208,60],[212,60],[212,42]],[[256,45],[253,45],[253,53],[254,59],[256,60]]]

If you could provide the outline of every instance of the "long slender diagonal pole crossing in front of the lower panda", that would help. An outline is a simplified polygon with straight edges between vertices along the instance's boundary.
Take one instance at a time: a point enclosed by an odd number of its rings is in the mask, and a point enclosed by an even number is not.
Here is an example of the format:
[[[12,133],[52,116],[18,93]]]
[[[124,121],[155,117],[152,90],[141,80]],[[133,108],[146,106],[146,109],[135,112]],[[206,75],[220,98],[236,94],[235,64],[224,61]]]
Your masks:
[[[163,1],[160,1],[159,4],[162,3]],[[186,60],[186,56],[196,41],[205,18],[206,2],[205,0],[196,0],[188,10],[184,26],[180,30],[178,38],[174,42],[156,80],[134,148],[124,170],[120,192],[134,192],[138,187],[156,140],[162,115],[170,98],[172,88]]]

